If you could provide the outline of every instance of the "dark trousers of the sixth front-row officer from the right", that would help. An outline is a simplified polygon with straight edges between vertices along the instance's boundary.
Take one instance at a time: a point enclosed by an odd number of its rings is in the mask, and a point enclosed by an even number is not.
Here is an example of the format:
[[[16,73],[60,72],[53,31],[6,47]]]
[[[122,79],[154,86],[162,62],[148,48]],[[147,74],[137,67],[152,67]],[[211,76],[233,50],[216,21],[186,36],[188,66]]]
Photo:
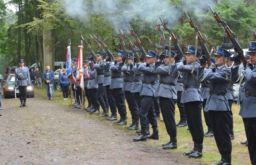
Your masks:
[[[134,93],[132,93],[130,91],[124,91],[124,94],[125,94],[125,98],[126,98],[129,110],[132,115],[132,120],[139,121],[140,111],[139,111]]]

